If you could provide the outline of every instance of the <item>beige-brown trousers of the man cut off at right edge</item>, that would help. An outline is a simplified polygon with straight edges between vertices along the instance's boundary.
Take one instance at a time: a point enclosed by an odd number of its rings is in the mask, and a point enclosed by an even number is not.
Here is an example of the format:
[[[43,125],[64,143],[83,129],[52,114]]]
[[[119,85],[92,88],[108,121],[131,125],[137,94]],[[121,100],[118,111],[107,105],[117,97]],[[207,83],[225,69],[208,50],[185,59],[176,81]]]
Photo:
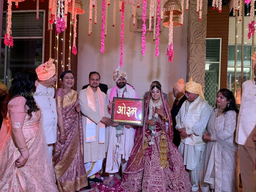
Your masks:
[[[238,144],[238,154],[243,192],[256,192],[255,148]]]

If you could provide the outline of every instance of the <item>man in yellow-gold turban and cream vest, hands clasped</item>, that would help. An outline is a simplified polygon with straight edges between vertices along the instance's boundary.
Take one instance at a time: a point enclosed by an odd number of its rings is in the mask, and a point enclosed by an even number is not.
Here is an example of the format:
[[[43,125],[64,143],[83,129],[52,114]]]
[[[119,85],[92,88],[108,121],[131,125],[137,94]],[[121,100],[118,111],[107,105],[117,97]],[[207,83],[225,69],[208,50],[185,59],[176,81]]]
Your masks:
[[[201,85],[192,78],[184,89],[187,101],[182,104],[176,116],[176,129],[181,137],[178,149],[190,175],[191,191],[195,192],[199,189],[199,167],[204,163],[202,159],[206,142],[202,135],[206,132],[211,105],[204,99]]]

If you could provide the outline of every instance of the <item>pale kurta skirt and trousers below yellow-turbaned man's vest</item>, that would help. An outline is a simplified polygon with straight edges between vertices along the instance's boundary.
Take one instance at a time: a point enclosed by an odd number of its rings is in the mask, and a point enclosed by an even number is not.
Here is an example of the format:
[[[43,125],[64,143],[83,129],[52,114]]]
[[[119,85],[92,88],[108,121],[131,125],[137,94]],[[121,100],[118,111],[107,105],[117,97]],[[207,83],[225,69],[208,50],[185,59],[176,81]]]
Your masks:
[[[199,168],[204,164],[205,145],[187,145],[180,142],[179,152],[183,156],[183,164],[186,165],[192,184],[191,190],[197,191],[199,189]]]

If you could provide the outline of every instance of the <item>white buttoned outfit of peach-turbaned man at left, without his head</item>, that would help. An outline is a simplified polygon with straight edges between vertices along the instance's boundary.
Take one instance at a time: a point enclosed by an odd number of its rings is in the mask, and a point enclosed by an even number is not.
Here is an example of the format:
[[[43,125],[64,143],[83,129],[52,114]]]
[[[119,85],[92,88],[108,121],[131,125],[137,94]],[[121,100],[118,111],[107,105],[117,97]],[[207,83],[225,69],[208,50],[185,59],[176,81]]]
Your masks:
[[[55,90],[52,86],[45,87],[42,84],[38,84],[34,99],[39,104],[43,113],[43,129],[45,132],[46,143],[50,153],[52,162],[52,147],[53,143],[57,141],[57,111],[56,100],[54,98]]]

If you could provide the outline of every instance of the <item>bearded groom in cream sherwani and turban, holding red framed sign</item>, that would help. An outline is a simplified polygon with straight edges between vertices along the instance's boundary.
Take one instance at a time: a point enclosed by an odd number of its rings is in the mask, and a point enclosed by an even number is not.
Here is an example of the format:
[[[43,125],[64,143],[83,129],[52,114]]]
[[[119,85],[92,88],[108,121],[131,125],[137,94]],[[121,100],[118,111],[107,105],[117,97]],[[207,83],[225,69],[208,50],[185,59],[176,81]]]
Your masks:
[[[135,98],[138,99],[136,91],[132,86],[126,84],[127,74],[122,70],[116,69],[113,73],[113,80],[116,85],[108,89],[107,97],[110,102],[108,105],[109,112],[112,110],[112,102],[114,97],[120,98]],[[103,183],[110,183],[120,166],[124,171],[126,163],[130,157],[132,147],[134,144],[134,129],[129,125],[122,125],[121,136],[117,138],[116,127],[109,126],[107,158],[105,172],[109,173],[109,177]]]

